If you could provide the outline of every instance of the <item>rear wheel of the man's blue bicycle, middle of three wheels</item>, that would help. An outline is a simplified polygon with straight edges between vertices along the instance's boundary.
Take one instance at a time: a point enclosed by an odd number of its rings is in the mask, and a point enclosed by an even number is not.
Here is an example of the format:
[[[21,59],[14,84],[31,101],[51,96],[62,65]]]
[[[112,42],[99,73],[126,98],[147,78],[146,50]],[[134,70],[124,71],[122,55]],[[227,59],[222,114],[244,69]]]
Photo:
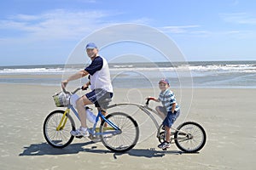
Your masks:
[[[120,133],[114,133],[116,130],[109,127],[110,125],[103,121],[100,126],[102,144],[104,144],[108,150],[112,150],[113,152],[125,152],[131,150],[137,144],[139,137],[139,127],[137,122],[131,116],[122,112],[111,113],[106,116],[106,119],[119,127]]]

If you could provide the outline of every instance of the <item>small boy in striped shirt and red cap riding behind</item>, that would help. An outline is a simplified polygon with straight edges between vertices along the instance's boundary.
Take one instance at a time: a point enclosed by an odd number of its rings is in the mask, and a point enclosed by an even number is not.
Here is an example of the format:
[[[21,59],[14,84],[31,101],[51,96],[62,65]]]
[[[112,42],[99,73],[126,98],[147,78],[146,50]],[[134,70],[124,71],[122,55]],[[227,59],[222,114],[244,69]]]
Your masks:
[[[170,148],[171,140],[171,127],[172,124],[176,121],[177,117],[180,114],[179,105],[177,105],[175,95],[169,89],[170,84],[167,79],[161,79],[159,82],[160,95],[159,98],[152,98],[156,102],[161,102],[163,106],[157,106],[155,110],[158,112],[159,116],[164,120],[163,126],[166,130],[166,139],[163,143],[159,144],[160,149]]]

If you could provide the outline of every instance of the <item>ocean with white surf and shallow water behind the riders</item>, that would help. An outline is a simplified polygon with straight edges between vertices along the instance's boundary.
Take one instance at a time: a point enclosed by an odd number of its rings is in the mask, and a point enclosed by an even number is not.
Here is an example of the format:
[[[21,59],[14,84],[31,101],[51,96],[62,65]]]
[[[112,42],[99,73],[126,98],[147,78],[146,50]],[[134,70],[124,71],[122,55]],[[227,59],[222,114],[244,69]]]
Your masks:
[[[0,83],[60,86],[64,77],[85,66],[0,66]],[[256,60],[110,63],[109,69],[113,88],[157,87],[162,77],[169,79],[174,88],[256,88]],[[77,86],[83,82],[86,78]]]

